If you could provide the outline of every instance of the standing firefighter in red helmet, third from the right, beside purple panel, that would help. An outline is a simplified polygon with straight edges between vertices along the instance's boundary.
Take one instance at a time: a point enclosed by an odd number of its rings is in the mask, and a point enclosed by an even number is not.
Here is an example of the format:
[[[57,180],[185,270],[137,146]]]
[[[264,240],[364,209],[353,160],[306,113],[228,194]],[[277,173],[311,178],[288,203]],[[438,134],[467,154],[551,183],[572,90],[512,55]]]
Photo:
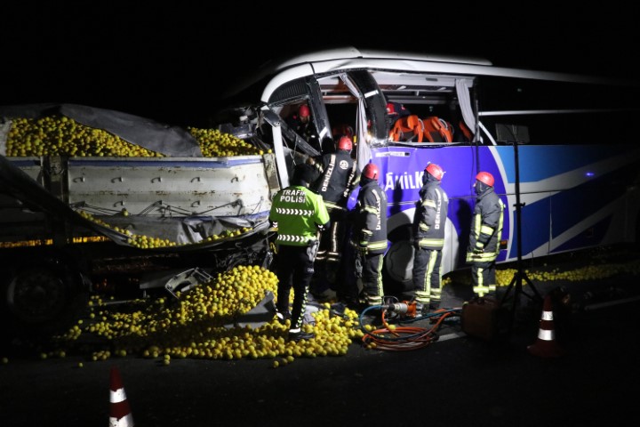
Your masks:
[[[349,213],[353,220],[351,245],[356,250],[356,271],[362,266],[364,306],[382,304],[382,258],[387,251],[387,194],[380,188],[378,166],[369,163],[360,176],[356,207]],[[353,294],[354,289],[348,289]]]

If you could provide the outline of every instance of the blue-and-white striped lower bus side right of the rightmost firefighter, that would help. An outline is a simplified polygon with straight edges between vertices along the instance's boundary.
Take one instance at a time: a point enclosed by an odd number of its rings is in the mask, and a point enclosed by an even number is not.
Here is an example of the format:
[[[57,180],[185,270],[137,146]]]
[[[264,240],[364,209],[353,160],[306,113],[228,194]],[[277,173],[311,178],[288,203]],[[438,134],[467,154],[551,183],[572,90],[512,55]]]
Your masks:
[[[516,223],[512,146],[492,147],[500,158],[509,216]],[[629,203],[640,150],[628,146],[519,146],[522,253],[541,256],[633,238],[637,204]],[[637,192],[637,191],[636,191]],[[629,207],[635,213],[629,214]],[[513,228],[508,260],[517,257]]]

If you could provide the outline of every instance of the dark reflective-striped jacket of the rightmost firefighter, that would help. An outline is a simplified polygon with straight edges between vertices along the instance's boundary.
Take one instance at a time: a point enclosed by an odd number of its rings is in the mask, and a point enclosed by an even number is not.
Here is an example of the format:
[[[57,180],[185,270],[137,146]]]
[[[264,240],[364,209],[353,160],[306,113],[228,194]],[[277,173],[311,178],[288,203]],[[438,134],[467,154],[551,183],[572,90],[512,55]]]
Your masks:
[[[500,254],[505,205],[492,187],[476,197],[467,262],[493,262]]]

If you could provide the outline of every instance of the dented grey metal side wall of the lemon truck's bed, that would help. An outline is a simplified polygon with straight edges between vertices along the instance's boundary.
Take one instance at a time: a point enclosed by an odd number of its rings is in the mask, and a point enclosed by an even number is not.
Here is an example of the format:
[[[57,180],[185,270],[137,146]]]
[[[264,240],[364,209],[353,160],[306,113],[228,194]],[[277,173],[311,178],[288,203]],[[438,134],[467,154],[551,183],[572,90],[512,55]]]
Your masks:
[[[225,231],[268,228],[277,190],[271,154],[239,157],[2,157],[0,238],[37,238],[44,213],[130,245],[177,246]],[[96,221],[86,221],[84,212]],[[245,230],[246,231],[246,230]],[[225,236],[228,238],[227,233]]]

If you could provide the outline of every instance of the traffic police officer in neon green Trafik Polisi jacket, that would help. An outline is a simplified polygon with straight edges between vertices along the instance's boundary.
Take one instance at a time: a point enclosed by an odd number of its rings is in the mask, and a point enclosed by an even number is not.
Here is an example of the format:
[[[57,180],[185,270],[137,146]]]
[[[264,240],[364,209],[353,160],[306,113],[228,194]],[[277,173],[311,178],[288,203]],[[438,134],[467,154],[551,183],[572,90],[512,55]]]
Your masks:
[[[296,165],[292,183],[276,193],[269,220],[277,227],[278,278],[276,316],[285,323],[291,318],[289,340],[314,337],[302,330],[307,306],[309,283],[314,274],[318,249],[317,232],[329,225],[329,213],[322,196],[308,189],[316,177],[312,165]],[[289,312],[289,296],[293,288],[293,304]]]

